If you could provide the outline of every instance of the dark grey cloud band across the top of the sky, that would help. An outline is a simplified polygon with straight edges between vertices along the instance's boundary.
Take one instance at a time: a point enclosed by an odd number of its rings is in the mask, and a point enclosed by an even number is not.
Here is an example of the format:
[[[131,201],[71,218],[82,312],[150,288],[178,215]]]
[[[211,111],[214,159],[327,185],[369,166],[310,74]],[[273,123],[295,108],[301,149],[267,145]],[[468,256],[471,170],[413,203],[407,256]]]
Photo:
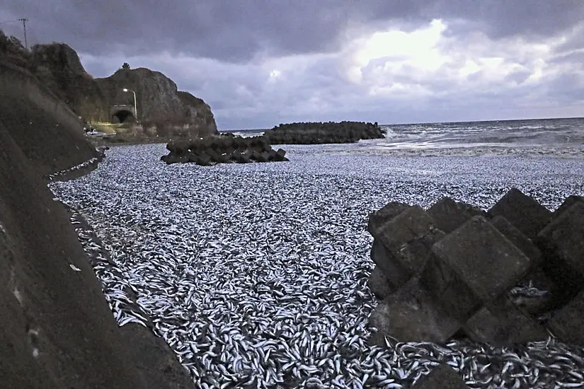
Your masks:
[[[451,34],[479,25],[495,38],[555,35],[583,20],[584,1],[8,0],[0,5],[0,18],[15,15],[29,19],[33,43],[68,42],[91,54],[120,47],[127,56],[166,51],[245,62],[263,52],[338,50],[347,27],[367,30],[387,21],[408,30],[432,18],[452,18],[464,23],[453,23]]]

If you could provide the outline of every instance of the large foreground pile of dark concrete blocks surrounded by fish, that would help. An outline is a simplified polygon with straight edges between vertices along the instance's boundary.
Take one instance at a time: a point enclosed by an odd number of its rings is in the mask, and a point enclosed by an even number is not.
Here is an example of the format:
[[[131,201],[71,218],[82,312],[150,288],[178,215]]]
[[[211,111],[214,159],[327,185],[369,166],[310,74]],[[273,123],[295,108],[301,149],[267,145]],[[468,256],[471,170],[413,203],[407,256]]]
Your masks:
[[[555,212],[516,188],[488,211],[448,197],[428,211],[390,202],[368,229],[369,286],[382,298],[370,318],[374,344],[465,337],[514,347],[552,334],[584,347],[584,197],[567,197]]]

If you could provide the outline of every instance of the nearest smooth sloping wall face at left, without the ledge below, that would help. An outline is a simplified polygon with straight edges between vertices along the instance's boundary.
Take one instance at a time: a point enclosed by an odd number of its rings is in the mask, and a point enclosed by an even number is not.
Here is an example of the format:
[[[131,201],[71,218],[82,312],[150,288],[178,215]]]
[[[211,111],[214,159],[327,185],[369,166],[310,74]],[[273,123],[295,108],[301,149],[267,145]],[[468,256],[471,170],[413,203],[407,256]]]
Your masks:
[[[66,211],[1,124],[0,144],[2,385],[146,387]]]

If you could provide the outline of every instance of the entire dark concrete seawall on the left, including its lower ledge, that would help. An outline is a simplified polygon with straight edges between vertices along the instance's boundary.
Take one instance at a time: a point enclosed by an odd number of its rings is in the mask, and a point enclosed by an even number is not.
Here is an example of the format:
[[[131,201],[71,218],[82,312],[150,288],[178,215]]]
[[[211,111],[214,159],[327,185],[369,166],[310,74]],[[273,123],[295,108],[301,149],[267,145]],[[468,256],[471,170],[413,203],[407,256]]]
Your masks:
[[[43,179],[98,158],[81,122],[34,76],[1,62],[0,112],[1,386],[193,388],[163,340],[118,327]]]

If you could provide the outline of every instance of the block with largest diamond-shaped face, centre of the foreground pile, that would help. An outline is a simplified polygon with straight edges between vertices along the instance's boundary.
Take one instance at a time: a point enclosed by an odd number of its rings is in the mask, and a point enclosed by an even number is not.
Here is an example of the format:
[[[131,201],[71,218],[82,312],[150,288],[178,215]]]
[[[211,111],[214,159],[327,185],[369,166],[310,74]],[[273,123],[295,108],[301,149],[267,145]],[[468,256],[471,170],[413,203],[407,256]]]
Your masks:
[[[527,274],[531,263],[483,216],[433,245],[420,279],[457,319],[466,321]]]

